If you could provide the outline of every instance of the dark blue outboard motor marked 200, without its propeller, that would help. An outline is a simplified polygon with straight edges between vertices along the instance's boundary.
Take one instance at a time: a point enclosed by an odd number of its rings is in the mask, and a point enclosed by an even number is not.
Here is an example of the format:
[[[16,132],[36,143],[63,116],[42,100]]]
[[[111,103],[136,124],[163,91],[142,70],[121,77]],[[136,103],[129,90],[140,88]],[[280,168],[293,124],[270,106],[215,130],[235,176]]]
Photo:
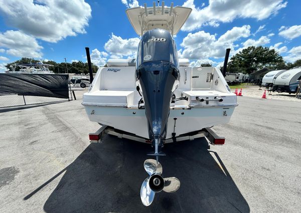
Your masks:
[[[180,72],[176,44],[162,29],[147,31],[141,38],[136,61],[137,90],[142,92],[148,135],[158,161],[166,138],[170,103],[179,85]]]

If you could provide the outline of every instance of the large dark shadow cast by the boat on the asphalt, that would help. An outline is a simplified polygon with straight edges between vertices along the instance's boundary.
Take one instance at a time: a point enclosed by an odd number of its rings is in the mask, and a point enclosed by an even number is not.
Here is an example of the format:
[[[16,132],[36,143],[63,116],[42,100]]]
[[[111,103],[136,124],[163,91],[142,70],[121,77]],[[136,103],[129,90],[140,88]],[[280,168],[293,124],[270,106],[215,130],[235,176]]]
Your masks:
[[[152,148],[113,136],[90,144],[24,199],[66,170],[44,205],[46,212],[250,212],[219,156],[207,145],[199,139],[165,146],[167,156],[160,159],[163,177],[179,178],[181,187],[175,193],[156,193],[148,207],[141,203],[140,186],[147,177],[143,162],[149,156],[145,154]]]

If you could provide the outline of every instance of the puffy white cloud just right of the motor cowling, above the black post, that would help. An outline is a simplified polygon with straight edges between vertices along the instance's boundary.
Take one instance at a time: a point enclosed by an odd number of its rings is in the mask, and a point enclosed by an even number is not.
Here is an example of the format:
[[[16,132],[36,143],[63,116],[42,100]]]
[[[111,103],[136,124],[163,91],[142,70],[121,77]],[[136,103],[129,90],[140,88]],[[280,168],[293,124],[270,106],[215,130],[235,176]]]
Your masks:
[[[227,31],[224,35],[216,39],[215,35],[199,31],[197,33],[189,33],[181,43],[178,51],[180,58],[188,58],[191,60],[222,58],[225,56],[225,49],[231,48],[232,52],[235,47],[234,42],[240,38],[250,36],[250,26],[234,27]]]

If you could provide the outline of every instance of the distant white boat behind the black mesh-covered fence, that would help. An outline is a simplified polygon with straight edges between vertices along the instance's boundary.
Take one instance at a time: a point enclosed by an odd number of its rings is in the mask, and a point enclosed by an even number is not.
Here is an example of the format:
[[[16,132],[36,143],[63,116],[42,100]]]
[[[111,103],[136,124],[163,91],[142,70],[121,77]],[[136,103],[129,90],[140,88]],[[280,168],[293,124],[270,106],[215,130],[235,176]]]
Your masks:
[[[51,64],[38,63],[22,63],[22,64],[12,64],[10,66],[11,71],[6,73],[21,73],[21,74],[54,74],[53,71],[49,70],[49,67],[53,67]]]

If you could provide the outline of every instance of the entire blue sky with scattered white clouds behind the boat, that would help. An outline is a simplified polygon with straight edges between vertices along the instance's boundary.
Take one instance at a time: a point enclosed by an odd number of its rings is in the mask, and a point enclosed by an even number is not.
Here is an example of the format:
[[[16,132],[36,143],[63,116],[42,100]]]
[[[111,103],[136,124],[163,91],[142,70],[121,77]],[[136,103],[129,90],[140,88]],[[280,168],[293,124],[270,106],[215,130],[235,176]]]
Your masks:
[[[192,66],[220,66],[248,46],[274,48],[287,62],[301,59],[301,2],[283,0],[165,1],[193,12],[176,36],[179,57]],[[125,10],[153,1],[0,0],[0,72],[21,57],[104,65],[108,58],[135,57],[139,41]]]

